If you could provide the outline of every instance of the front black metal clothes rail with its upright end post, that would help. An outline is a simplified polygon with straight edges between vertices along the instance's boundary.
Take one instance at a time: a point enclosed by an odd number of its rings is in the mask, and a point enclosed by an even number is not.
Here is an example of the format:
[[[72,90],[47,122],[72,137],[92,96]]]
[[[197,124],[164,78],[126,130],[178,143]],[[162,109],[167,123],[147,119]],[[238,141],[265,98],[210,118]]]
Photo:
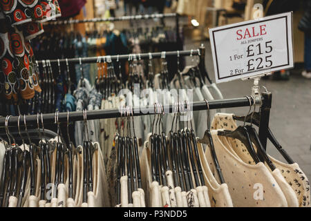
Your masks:
[[[263,148],[267,146],[267,131],[269,126],[269,117],[270,117],[270,108],[272,102],[272,94],[271,93],[262,93],[263,105],[261,106],[261,122],[259,126],[259,137],[261,143],[263,144]],[[220,108],[238,108],[238,107],[246,107],[252,106],[254,104],[254,100],[250,99],[251,104],[249,104],[249,99],[247,97],[235,98],[235,99],[221,99],[221,100],[213,100],[209,101],[209,109],[220,109]],[[180,104],[179,104],[180,105]],[[191,111],[204,111],[207,110],[207,104],[205,101],[203,102],[194,102],[189,104],[191,107]],[[182,109],[182,108],[180,108]],[[142,116],[142,115],[154,115],[153,113],[154,106],[148,107],[133,107],[133,116]],[[169,111],[169,113],[176,113],[176,106],[169,105],[163,106],[164,114],[168,113],[165,111]],[[187,110],[187,105],[185,104],[185,110]],[[115,117],[124,117],[124,114],[120,112],[119,109],[111,109],[111,110],[98,110],[98,111],[86,111],[86,119],[109,119]],[[44,125],[46,124],[55,124],[55,113],[48,113],[42,115]],[[17,116],[10,117],[8,121],[8,126],[17,126],[18,125]],[[27,115],[26,123],[37,125],[38,115]],[[83,121],[84,113],[83,111],[75,111],[70,113],[58,113],[58,122],[75,122],[75,121]],[[20,121],[23,121],[23,117],[21,117]],[[0,128],[4,128],[6,122],[6,117],[0,117]],[[39,122],[41,123],[41,115],[39,115]],[[23,124],[21,123],[21,126]]]

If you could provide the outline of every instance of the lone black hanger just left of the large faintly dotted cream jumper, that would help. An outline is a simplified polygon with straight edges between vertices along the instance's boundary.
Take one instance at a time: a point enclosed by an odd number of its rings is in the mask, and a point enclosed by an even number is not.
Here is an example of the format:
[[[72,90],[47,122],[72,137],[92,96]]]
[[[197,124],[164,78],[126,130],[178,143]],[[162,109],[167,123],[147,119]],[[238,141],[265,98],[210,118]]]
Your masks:
[[[209,102],[205,99],[206,105],[207,105],[207,131],[204,133],[204,137],[201,140],[198,140],[200,144],[207,144],[209,146],[210,151],[211,151],[211,157],[213,159],[214,165],[216,167],[216,171],[220,180],[220,184],[225,183],[225,178],[223,177],[223,172],[221,171],[220,164],[218,162],[214,142],[213,142],[213,137],[211,136],[211,131],[209,130],[210,125],[209,125]]]

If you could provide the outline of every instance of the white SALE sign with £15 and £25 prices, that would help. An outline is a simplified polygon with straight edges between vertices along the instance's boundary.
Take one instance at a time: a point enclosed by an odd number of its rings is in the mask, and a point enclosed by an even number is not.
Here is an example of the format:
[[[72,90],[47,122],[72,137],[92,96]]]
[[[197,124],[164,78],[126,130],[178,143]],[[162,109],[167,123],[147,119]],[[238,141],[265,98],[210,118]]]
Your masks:
[[[294,67],[292,12],[209,29],[216,83]]]

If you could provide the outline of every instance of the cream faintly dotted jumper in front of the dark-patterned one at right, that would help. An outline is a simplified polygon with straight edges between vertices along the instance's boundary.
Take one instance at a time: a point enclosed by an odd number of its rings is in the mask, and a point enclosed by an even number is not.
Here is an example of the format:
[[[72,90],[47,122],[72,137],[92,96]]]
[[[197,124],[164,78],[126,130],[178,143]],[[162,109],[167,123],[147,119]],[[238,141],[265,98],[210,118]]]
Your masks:
[[[234,206],[288,206],[283,191],[265,164],[246,164],[227,149],[217,134],[217,130],[211,131],[220,168]],[[209,151],[206,150],[205,155],[208,162],[213,162]]]

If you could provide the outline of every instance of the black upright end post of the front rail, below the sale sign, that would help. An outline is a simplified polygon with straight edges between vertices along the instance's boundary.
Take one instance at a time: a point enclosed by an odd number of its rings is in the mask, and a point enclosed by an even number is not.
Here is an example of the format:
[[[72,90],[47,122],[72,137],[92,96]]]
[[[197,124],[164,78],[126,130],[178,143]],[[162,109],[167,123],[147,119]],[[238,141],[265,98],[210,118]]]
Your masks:
[[[259,124],[259,139],[263,148],[267,149],[267,136],[269,128],[269,119],[270,119],[270,109],[272,106],[272,93],[263,92],[263,105],[261,106],[261,122]]]

